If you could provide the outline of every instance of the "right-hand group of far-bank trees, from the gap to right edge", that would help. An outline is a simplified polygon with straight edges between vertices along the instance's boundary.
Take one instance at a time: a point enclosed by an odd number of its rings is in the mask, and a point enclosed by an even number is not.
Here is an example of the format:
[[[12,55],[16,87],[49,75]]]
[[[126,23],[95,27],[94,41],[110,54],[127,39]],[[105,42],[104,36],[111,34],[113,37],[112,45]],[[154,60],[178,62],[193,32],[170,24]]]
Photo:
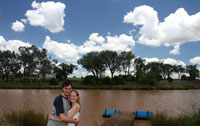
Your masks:
[[[110,71],[111,79],[114,78],[116,72],[124,73],[123,77],[131,77],[135,81],[145,79],[147,81],[152,79],[172,81],[172,74],[177,74],[178,79],[182,80],[195,80],[199,77],[197,65],[183,67],[182,65],[165,64],[162,61],[146,63],[145,59],[135,57],[131,51],[121,53],[110,50],[93,51],[82,56],[78,64],[97,78],[102,78],[106,69]],[[186,76],[187,74],[189,77]]]

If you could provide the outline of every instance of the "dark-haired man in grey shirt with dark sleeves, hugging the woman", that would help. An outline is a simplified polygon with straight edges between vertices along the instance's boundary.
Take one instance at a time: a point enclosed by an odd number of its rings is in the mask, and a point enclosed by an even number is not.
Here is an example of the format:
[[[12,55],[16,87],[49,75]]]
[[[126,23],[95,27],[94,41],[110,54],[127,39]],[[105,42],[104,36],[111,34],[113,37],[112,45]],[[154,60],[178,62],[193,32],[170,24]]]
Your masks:
[[[66,122],[76,124],[79,122],[79,120],[67,117],[67,113],[71,108],[69,95],[72,91],[72,84],[69,80],[63,83],[62,90],[62,93],[55,98],[52,107],[52,115],[59,118],[62,122],[48,120],[47,126],[65,126]]]

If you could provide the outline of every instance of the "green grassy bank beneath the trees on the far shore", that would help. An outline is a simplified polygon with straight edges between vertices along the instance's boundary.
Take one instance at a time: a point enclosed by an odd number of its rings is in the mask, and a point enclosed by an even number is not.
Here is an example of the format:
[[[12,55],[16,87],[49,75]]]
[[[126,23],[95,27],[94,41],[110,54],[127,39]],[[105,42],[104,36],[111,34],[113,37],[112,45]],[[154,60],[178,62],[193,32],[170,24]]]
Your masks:
[[[168,83],[161,81],[156,85],[143,85],[135,82],[126,82],[123,85],[83,85],[80,79],[71,79],[75,89],[110,89],[110,90],[188,90],[200,89],[200,81],[174,81]],[[62,82],[57,85],[49,85],[48,80],[36,82],[22,82],[22,81],[0,81],[1,89],[60,89]]]

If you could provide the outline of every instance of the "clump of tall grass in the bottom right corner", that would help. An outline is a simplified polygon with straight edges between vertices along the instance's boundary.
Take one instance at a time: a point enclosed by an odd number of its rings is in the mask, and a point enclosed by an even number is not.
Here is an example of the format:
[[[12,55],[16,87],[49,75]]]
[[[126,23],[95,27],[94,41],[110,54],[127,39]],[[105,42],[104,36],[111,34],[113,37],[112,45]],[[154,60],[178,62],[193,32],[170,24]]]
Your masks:
[[[166,113],[156,113],[151,119],[152,126],[200,126],[200,112],[168,117]]]

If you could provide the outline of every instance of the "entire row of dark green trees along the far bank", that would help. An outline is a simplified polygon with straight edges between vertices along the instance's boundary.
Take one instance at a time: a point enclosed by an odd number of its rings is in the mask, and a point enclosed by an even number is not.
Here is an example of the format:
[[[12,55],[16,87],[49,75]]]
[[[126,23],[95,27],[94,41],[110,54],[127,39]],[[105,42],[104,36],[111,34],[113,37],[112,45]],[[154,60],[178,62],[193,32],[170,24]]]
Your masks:
[[[171,80],[173,73],[183,80],[195,80],[199,77],[197,65],[183,67],[164,64],[161,61],[146,63],[145,59],[135,57],[131,51],[120,53],[110,50],[92,51],[83,55],[77,63],[96,78],[105,77],[106,70],[110,71],[111,79],[115,77],[116,72],[119,72],[136,81],[145,78],[155,78],[158,81]],[[51,59],[47,56],[46,49],[37,48],[35,45],[19,47],[19,53],[9,50],[0,51],[0,77],[2,80],[45,79],[47,75],[55,75],[57,79],[66,79],[76,69],[77,66],[74,64],[58,63],[57,60]]]

